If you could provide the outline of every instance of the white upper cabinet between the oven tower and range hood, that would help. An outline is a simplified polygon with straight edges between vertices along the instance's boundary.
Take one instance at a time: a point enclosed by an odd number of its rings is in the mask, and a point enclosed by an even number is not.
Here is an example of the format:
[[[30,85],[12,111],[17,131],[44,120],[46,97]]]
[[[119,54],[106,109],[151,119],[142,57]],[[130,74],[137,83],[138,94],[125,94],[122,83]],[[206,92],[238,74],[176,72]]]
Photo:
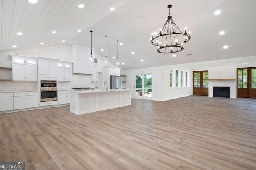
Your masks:
[[[72,81],[72,63],[58,63],[58,81]]]

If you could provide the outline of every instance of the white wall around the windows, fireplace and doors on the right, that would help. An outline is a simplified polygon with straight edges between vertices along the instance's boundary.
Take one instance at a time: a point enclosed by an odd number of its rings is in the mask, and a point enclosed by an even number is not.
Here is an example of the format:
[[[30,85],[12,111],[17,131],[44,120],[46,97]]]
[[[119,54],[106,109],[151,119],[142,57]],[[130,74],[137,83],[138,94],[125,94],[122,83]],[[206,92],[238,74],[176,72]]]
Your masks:
[[[209,79],[236,79],[236,68],[256,67],[256,56],[204,61],[162,67],[150,67],[125,71],[127,87],[134,89],[135,75],[152,73],[152,100],[165,101],[193,94],[193,71],[209,71]],[[189,87],[169,88],[169,70],[189,71]],[[236,81],[209,81],[209,97],[213,96],[213,86],[230,86],[230,97],[236,98]],[[132,98],[134,98],[134,93]]]

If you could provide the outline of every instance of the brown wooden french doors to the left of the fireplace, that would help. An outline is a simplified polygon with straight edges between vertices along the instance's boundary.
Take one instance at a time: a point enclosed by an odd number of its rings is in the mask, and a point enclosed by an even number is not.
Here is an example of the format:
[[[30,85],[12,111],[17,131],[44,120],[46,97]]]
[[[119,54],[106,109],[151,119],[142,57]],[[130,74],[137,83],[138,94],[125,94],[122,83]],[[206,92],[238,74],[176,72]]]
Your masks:
[[[208,71],[193,71],[193,95],[208,96]]]

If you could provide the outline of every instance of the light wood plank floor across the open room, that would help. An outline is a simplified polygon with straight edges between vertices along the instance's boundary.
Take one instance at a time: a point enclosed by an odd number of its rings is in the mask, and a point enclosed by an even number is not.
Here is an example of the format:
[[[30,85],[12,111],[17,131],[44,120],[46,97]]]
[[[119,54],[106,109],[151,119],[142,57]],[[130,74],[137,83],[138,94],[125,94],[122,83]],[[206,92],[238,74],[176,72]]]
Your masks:
[[[0,115],[0,161],[27,170],[255,170],[256,99],[189,96],[85,115]]]

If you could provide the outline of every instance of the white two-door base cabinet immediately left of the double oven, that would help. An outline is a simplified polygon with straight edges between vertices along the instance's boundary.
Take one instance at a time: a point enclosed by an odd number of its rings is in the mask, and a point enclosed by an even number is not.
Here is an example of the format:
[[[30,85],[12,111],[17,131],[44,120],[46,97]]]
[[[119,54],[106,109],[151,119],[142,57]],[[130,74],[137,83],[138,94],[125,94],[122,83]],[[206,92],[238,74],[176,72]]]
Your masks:
[[[14,92],[14,109],[39,107],[39,92]]]

